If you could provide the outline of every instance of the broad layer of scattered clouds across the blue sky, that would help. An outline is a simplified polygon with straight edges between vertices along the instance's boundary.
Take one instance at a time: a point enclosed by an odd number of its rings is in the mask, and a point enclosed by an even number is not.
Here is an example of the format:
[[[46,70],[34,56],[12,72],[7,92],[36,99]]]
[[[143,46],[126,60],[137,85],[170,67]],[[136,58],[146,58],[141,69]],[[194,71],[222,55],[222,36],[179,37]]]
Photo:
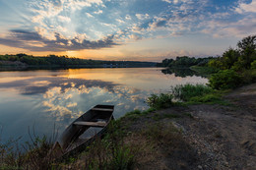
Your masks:
[[[240,38],[256,32],[256,0],[30,0],[24,3],[27,13],[23,16],[29,20],[23,27],[6,27],[7,32],[0,34],[0,44],[31,51],[68,51],[114,47],[140,39],[191,34]]]

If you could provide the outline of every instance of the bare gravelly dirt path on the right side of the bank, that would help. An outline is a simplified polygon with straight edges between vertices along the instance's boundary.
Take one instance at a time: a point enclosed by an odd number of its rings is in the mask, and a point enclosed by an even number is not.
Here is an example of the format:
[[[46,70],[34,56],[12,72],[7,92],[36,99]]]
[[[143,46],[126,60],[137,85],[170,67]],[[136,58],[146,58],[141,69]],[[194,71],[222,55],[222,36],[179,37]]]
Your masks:
[[[198,169],[256,169],[256,84],[225,99],[232,106],[193,105],[193,119],[176,120],[200,155]],[[173,111],[170,111],[173,112]]]

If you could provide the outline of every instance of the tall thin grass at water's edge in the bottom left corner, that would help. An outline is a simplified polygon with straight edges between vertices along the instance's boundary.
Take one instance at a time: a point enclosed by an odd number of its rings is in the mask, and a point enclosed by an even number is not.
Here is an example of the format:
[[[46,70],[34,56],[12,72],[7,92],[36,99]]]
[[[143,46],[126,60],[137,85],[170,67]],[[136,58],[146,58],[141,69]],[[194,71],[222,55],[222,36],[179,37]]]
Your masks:
[[[29,128],[29,136],[31,141],[25,143],[19,143],[21,138],[8,142],[1,142],[0,138],[0,169],[44,170],[53,168],[55,157],[50,150],[57,137],[55,133],[51,138],[46,138],[46,136],[39,138],[34,130],[31,133]]]

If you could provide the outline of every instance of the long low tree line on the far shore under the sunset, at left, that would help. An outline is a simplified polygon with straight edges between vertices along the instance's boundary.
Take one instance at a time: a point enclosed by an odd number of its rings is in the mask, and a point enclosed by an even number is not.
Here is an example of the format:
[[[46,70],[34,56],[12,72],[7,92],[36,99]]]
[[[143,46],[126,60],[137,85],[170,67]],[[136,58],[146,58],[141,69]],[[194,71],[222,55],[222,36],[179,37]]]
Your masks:
[[[29,66],[109,66],[109,67],[133,67],[133,66],[156,66],[154,62],[137,62],[137,61],[102,61],[92,59],[79,59],[68,56],[48,55],[46,57],[34,57],[27,54],[0,55],[1,61],[22,62]]]

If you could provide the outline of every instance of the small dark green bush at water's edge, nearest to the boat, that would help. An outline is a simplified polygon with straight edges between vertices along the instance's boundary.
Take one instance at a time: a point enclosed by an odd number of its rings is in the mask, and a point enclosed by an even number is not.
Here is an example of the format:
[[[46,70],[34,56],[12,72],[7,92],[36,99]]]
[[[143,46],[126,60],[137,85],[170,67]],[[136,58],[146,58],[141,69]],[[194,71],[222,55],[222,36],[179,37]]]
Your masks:
[[[170,107],[172,103],[172,94],[169,93],[160,93],[160,95],[152,94],[146,102],[150,107],[161,109]]]

